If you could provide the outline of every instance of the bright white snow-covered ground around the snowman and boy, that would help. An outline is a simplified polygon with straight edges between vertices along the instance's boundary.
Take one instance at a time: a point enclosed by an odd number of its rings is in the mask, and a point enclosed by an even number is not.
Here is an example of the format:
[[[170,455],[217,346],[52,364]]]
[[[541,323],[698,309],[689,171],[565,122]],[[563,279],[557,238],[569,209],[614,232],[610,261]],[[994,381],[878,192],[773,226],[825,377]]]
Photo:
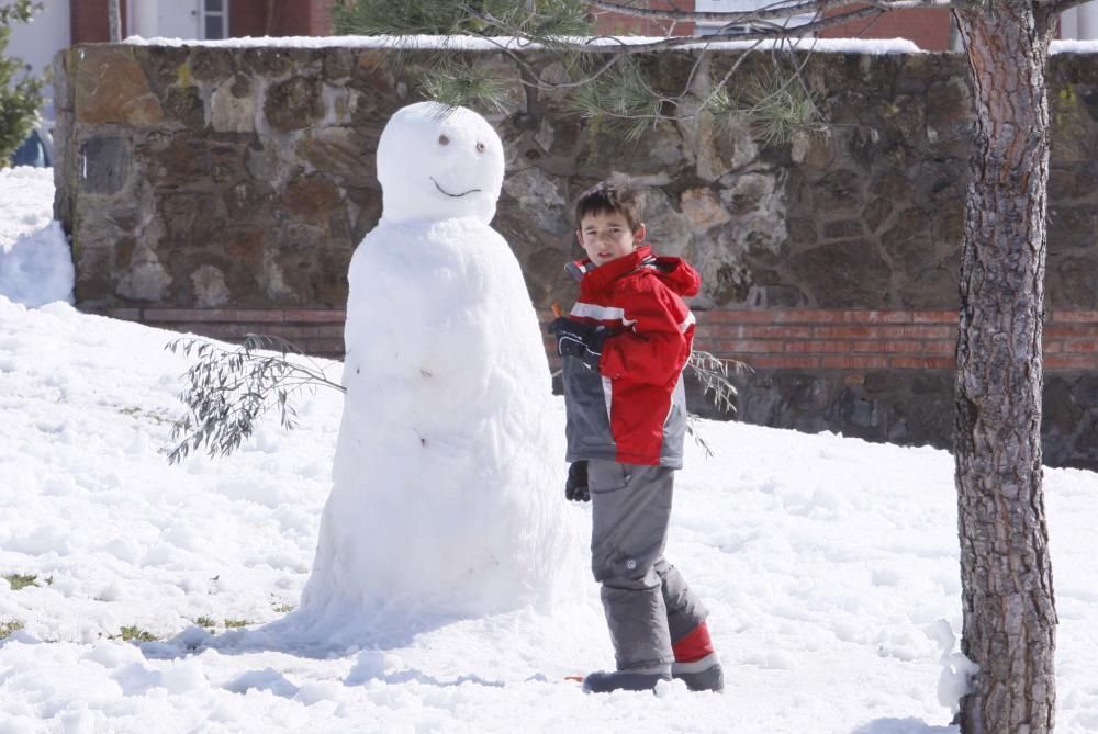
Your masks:
[[[0,232],[29,216],[11,180]],[[23,229],[51,226],[48,200],[36,211]],[[587,696],[563,677],[610,663],[593,583],[551,614],[289,644],[270,623],[309,576],[341,396],[306,396],[296,430],[272,419],[229,458],[169,465],[177,336],[0,297],[0,734],[955,731],[948,453],[703,421],[716,455],[688,448],[668,553],[710,607],[728,689]],[[1049,470],[1046,493],[1057,731],[1093,732],[1098,475]]]

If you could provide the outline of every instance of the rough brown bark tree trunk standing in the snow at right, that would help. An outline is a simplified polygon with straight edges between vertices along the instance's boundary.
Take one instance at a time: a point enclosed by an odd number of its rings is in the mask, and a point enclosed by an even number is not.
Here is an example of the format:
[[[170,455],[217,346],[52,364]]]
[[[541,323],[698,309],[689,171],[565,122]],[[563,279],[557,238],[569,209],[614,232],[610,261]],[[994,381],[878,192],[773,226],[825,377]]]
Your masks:
[[[961,263],[956,485],[964,734],[1055,718],[1056,610],[1041,470],[1050,19],[1032,0],[957,11],[976,103]]]

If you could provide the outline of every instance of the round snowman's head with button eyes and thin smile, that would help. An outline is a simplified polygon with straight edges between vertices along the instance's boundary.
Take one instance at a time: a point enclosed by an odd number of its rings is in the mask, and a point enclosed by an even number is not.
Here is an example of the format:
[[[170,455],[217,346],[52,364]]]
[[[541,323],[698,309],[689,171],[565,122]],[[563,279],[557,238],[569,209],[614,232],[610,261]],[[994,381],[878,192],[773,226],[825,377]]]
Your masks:
[[[488,224],[503,187],[503,143],[472,110],[418,102],[390,117],[378,143],[382,217]]]

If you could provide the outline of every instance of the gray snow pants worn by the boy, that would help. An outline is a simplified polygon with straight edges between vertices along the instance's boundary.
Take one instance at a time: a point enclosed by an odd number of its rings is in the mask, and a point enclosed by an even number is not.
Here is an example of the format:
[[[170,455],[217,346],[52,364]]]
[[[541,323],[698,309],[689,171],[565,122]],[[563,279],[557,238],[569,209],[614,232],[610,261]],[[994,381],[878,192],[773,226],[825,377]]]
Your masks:
[[[591,569],[618,670],[669,665],[672,645],[708,611],[663,557],[674,471],[665,466],[587,462]]]

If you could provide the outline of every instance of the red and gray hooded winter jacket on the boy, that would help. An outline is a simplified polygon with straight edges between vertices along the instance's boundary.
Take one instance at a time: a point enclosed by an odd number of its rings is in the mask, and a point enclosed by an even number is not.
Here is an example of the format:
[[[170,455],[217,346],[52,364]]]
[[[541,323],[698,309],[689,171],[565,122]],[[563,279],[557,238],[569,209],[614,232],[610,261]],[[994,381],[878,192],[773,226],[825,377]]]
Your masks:
[[[648,246],[594,267],[569,263],[581,279],[571,317],[610,330],[598,372],[563,360],[568,461],[682,468],[686,397],[682,373],[694,340],[683,296],[697,293],[697,271]]]

